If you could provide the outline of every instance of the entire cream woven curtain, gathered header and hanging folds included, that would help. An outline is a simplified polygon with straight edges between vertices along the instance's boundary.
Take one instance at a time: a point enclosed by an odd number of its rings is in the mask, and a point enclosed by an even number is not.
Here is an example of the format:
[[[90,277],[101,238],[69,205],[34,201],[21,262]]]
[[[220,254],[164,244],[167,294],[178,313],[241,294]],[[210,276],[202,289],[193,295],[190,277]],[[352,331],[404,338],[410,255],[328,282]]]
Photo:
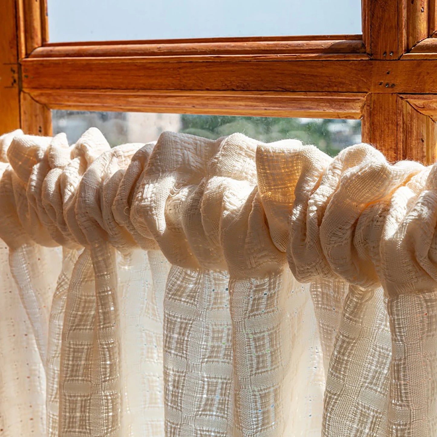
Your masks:
[[[0,137],[3,436],[436,436],[437,164]]]

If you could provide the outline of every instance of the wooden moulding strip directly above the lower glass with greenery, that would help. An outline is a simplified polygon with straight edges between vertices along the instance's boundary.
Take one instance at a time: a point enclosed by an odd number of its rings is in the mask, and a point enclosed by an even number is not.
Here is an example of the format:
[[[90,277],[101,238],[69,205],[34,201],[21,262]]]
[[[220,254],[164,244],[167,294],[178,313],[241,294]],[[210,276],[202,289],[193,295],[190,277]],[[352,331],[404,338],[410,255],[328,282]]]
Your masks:
[[[361,118],[366,94],[27,90],[52,109],[269,117]]]

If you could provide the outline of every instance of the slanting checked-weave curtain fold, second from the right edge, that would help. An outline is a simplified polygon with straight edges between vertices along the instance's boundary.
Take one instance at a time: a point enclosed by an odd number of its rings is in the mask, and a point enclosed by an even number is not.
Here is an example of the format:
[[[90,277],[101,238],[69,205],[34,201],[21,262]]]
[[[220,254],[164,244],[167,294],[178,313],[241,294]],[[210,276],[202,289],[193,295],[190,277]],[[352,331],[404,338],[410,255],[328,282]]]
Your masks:
[[[350,285],[329,361],[323,435],[386,434],[390,360],[382,289]]]

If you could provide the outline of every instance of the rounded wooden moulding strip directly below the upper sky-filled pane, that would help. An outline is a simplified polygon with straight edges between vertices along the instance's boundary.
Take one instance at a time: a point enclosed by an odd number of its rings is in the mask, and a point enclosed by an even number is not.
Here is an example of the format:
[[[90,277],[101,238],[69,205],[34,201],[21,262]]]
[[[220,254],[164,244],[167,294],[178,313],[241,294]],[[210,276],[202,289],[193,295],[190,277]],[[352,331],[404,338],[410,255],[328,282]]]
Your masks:
[[[223,56],[223,55],[305,55],[364,54],[361,39],[314,41],[238,41],[238,42],[163,42],[114,45],[45,45],[35,49],[31,58],[63,57],[137,57],[137,56]]]

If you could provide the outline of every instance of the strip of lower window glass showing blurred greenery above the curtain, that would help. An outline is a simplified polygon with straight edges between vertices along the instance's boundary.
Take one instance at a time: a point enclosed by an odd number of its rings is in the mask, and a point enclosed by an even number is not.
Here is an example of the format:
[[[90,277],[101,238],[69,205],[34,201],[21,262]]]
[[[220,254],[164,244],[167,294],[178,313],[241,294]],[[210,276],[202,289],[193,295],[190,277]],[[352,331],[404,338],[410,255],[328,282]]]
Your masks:
[[[154,141],[164,131],[186,132],[211,139],[240,132],[263,142],[294,138],[304,144],[313,144],[331,156],[346,146],[361,142],[360,120],[52,111],[52,121],[53,134],[66,132],[70,144],[92,126],[103,132],[111,146]]]

